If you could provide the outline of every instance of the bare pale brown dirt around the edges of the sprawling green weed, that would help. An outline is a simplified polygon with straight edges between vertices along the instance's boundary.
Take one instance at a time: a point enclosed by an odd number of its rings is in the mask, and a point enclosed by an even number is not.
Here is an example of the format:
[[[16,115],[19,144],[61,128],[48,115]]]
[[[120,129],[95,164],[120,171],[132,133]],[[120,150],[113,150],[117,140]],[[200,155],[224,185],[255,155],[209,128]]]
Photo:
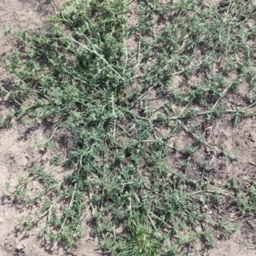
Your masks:
[[[216,3],[216,1],[213,2]],[[5,55],[14,45],[14,39],[4,36],[3,26],[33,29],[44,22],[47,15],[54,14],[60,3],[61,1],[54,0],[51,2],[0,0],[0,24],[2,25],[0,28],[0,56]],[[11,79],[1,66],[0,78]],[[178,81],[177,86],[179,86]],[[241,91],[241,95],[242,93],[243,91]],[[235,98],[233,101],[239,104],[239,98]],[[9,108],[8,102],[0,101],[1,116]],[[200,123],[200,120],[198,122]],[[228,149],[239,150],[240,155],[233,163],[212,159],[215,170],[219,171],[214,172],[212,177],[208,177],[211,178],[210,182],[216,185],[216,183],[225,183],[230,177],[237,177],[241,183],[247,186],[247,179],[256,180],[256,119],[246,119],[236,129],[230,126],[228,119],[226,123],[216,122],[213,126],[206,129],[208,142],[216,145],[224,143]],[[7,196],[5,185],[6,183],[16,183],[19,177],[26,177],[27,168],[40,162],[47,163],[51,155],[54,154],[54,152],[49,152],[50,150],[45,152],[42,148],[36,147],[38,143],[45,142],[44,130],[44,125],[38,125],[37,129],[30,129],[28,125],[14,123],[8,131],[0,131],[0,256],[100,255],[96,251],[96,241],[91,241],[89,237],[82,239],[79,248],[74,253],[69,253],[65,247],[48,243],[39,231],[40,224],[38,224],[38,228],[29,233],[19,227],[18,220],[27,213],[37,212],[38,208],[20,206],[18,202]],[[183,142],[181,141],[181,143]],[[208,154],[209,158],[214,156],[209,148],[204,149],[205,151],[201,152],[202,155]],[[65,170],[60,169],[57,172],[63,173]],[[232,218],[235,220],[236,216],[230,216],[230,219]],[[218,241],[217,247],[209,251],[203,251],[199,245],[195,247],[195,254],[193,255],[256,255],[255,249],[250,246],[254,240],[255,226],[253,220],[247,221],[247,223],[242,224],[240,230],[230,236],[229,240]]]

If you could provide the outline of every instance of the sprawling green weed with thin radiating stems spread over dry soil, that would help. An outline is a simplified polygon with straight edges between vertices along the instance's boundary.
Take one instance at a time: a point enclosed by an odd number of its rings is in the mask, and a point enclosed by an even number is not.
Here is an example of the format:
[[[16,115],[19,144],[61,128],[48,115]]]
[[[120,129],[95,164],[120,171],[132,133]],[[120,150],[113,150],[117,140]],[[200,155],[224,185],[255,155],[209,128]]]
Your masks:
[[[20,224],[30,230],[45,219],[50,240],[76,247],[90,212],[103,252],[153,256],[183,255],[195,241],[212,247],[217,231],[229,236],[239,223],[218,208],[255,218],[255,183],[217,187],[207,178],[213,157],[233,161],[236,152],[205,132],[218,119],[237,125],[255,113],[255,12],[241,0],[148,0],[136,9],[76,0],[37,31],[17,32],[20,48],[5,59],[17,79],[11,90],[1,86],[14,108],[1,125],[54,119],[46,146],[58,131],[73,137],[67,160],[55,156],[48,170],[35,166],[9,184],[15,197],[41,206]],[[212,153],[199,160],[203,148]],[[61,165],[70,172],[60,183]],[[35,195],[33,180],[44,184]]]

